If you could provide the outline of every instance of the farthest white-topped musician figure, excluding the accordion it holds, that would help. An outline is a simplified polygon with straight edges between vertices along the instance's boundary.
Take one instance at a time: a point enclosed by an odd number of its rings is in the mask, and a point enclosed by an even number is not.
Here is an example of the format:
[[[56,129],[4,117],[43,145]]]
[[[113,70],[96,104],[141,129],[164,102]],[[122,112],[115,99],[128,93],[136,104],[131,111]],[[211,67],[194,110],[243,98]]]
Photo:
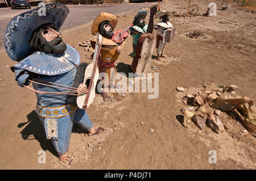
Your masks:
[[[160,60],[159,57],[166,57],[164,56],[164,49],[166,47],[166,43],[163,43],[164,39],[164,31],[166,31],[168,28],[172,27],[172,24],[169,21],[168,14],[170,12],[162,11],[155,15],[155,19],[159,18],[161,21],[155,25],[156,28],[158,28],[158,35],[156,36],[156,53],[158,56],[156,57],[156,60]],[[176,34],[176,30],[175,30]]]

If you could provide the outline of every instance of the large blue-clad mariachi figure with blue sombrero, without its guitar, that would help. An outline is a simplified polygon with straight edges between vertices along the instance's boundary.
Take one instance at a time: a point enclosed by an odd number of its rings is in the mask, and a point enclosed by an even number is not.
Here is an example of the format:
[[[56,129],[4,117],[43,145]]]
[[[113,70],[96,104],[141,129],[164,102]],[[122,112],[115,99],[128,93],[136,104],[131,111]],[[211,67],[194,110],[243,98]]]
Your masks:
[[[91,134],[95,133],[85,110],[69,104],[68,95],[83,94],[85,87],[71,87],[75,82],[79,53],[61,39],[59,29],[69,10],[61,3],[46,5],[15,16],[5,33],[5,48],[14,61],[12,68],[19,86],[35,91],[36,112],[47,139],[60,155],[60,163],[70,166],[73,157],[67,153],[73,121]],[[28,85],[32,82],[33,88]],[[99,130],[97,130],[98,133]]]

